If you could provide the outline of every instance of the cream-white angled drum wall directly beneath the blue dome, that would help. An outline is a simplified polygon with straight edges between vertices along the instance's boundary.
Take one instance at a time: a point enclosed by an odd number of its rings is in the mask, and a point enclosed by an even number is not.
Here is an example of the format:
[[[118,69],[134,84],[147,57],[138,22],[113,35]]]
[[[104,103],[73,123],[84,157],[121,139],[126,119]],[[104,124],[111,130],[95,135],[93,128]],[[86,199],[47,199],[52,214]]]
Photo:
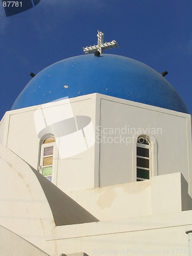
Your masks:
[[[58,157],[55,184],[61,190],[136,181],[136,138],[145,134],[152,144],[152,176],[181,172],[191,191],[189,114],[101,94],[72,98],[70,103],[75,116],[91,118],[96,141],[80,154],[65,159]],[[42,108],[51,109],[49,104]],[[38,108],[7,112],[0,124],[1,143],[36,169],[40,139],[35,130],[34,113]]]

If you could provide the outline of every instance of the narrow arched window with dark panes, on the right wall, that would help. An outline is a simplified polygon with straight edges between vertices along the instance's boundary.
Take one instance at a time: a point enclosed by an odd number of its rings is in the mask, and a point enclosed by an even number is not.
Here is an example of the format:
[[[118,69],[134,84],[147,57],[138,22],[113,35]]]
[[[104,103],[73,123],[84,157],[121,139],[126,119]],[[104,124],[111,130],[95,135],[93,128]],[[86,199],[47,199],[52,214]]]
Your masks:
[[[137,139],[137,181],[149,180],[151,177],[151,143],[140,136]]]

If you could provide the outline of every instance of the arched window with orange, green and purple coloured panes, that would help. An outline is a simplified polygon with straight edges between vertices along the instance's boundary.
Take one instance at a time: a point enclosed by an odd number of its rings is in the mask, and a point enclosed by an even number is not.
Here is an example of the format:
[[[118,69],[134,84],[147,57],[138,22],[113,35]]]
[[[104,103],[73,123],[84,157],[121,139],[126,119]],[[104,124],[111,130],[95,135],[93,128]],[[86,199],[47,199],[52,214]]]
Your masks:
[[[53,175],[54,147],[55,138],[53,136],[46,137],[42,140],[40,150],[39,172],[49,181],[52,181]]]

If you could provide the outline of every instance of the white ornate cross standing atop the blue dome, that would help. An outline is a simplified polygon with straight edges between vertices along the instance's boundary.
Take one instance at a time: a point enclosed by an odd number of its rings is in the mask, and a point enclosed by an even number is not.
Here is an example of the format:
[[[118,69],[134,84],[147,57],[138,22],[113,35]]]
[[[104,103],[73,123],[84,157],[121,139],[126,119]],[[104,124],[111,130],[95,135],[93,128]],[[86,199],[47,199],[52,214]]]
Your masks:
[[[113,40],[111,42],[105,42],[103,44],[104,34],[102,32],[100,32],[99,30],[97,32],[98,32],[98,34],[97,34],[97,37],[98,37],[97,45],[90,46],[90,47],[87,46],[86,48],[83,47],[83,52],[84,53],[88,54],[88,53],[93,53],[93,52],[96,52],[96,51],[99,51],[100,53],[103,53],[103,50],[108,50],[108,49],[111,49],[111,48],[118,47],[118,44],[115,40]]]

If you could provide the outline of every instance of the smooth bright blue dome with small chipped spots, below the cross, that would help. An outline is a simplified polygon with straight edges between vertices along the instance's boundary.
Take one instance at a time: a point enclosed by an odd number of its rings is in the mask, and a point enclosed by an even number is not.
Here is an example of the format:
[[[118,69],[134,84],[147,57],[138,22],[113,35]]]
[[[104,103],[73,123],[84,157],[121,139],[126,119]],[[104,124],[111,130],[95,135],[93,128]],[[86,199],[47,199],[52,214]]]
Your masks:
[[[54,63],[31,79],[11,110],[91,93],[188,113],[162,75],[137,60],[112,54],[80,55]]]

